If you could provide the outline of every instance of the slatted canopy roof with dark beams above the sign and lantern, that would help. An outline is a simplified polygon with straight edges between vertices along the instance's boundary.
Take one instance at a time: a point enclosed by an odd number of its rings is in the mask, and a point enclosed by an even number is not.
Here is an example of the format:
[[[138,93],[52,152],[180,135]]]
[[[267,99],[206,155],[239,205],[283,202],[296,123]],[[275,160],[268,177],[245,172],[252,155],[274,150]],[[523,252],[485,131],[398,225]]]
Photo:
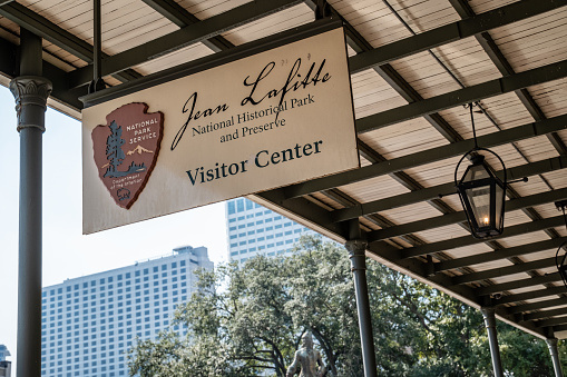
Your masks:
[[[567,338],[567,1],[339,0],[362,168],[254,200],[539,337]],[[315,1],[104,0],[102,76],[119,86],[314,22]],[[92,80],[92,3],[0,0],[0,81],[18,76],[20,27],[43,38],[50,105],[80,118]],[[223,52],[224,53],[224,52]],[[506,162],[506,229],[467,230],[453,171],[473,142]],[[493,162],[493,161],[490,161]],[[353,231],[355,230],[355,231]],[[354,236],[352,236],[354,235]]]

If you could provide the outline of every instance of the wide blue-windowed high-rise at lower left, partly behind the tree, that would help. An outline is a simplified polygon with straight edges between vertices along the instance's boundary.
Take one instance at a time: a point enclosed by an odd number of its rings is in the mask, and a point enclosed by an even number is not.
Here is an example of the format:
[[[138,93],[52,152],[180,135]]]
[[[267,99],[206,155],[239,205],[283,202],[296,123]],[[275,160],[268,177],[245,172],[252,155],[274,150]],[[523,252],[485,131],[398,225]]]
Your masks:
[[[196,268],[213,269],[205,247],[42,289],[41,375],[127,376],[136,337],[154,339],[194,289]],[[179,335],[186,329],[174,327]]]

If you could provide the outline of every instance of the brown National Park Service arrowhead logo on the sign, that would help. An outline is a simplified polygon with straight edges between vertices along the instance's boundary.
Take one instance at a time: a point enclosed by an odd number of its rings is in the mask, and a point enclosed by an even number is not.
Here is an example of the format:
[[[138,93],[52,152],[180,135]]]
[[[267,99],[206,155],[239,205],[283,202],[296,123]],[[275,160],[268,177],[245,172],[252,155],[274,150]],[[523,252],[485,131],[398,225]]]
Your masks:
[[[141,102],[125,105],[91,133],[98,176],[116,204],[126,209],[144,190],[164,133],[164,115],[147,113],[147,109]]]

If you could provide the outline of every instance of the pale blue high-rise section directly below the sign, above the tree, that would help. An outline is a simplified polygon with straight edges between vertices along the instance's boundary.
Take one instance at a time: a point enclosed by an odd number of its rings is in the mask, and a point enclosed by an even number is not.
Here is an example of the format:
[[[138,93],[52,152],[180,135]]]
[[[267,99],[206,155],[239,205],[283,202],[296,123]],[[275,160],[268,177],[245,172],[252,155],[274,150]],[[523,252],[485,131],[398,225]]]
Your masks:
[[[311,229],[245,198],[226,201],[228,260],[245,261],[258,254],[290,252]]]

